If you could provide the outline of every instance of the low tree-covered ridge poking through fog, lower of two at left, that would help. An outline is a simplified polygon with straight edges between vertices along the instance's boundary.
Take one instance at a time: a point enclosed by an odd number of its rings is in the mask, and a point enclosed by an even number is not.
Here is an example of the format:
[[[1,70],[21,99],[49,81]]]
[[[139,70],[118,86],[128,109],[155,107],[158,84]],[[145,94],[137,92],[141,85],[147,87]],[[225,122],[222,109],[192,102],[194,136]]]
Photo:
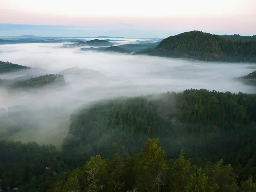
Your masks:
[[[48,84],[65,84],[63,75],[46,74],[44,76],[34,77],[23,81],[17,81],[12,88],[40,88]]]

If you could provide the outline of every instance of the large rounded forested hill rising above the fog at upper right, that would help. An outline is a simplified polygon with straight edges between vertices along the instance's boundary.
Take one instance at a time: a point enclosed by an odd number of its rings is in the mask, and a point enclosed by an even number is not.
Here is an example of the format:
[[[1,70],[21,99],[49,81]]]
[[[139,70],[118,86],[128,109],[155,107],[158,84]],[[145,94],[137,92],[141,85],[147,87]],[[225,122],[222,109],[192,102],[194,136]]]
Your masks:
[[[256,62],[256,41],[232,41],[220,35],[191,31],[170,36],[154,49],[136,54],[201,61]]]

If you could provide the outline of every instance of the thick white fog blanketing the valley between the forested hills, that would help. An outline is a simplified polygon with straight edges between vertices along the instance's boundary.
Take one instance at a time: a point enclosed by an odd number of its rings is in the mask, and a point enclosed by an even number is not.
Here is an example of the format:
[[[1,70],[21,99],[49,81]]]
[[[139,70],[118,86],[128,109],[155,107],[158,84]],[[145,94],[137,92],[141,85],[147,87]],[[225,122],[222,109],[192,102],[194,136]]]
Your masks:
[[[61,73],[67,83],[63,87],[13,93],[0,88],[0,107],[23,106],[32,111],[26,118],[38,122],[35,130],[20,131],[8,138],[59,145],[67,134],[70,113],[100,99],[179,92],[190,88],[232,93],[256,91],[255,87],[236,79],[255,70],[253,64],[83,52],[80,48],[58,49],[61,45],[0,45],[1,61],[32,67],[31,70],[1,74],[0,79],[15,79],[28,73],[32,76]]]

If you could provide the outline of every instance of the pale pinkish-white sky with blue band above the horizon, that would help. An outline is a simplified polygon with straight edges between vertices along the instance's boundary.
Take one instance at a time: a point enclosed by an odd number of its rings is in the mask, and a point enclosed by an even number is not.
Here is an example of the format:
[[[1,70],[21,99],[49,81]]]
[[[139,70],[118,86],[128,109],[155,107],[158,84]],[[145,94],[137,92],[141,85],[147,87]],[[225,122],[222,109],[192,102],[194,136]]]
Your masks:
[[[0,0],[0,36],[256,35],[256,0]]]

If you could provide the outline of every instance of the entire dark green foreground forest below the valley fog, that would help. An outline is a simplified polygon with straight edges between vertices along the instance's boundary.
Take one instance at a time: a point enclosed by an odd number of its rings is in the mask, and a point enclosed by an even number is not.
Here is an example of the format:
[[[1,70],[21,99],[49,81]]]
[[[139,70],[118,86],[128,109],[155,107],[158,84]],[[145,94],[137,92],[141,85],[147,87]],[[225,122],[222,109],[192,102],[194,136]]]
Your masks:
[[[185,90],[93,103],[61,151],[0,141],[4,192],[254,192],[256,94]],[[159,139],[154,139],[159,138]]]

